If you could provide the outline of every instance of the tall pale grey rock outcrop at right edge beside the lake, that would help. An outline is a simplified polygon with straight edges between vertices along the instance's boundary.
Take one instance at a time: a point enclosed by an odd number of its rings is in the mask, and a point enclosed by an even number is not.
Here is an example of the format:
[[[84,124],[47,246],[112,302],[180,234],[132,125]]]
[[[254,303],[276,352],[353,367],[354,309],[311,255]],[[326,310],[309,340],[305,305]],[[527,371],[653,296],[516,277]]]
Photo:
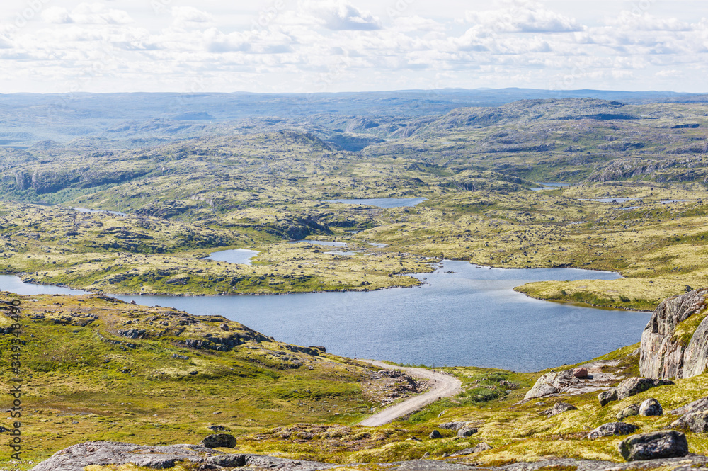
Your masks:
[[[654,310],[641,334],[639,373],[649,378],[690,378],[708,365],[708,324],[704,320],[686,346],[675,338],[678,324],[706,307],[708,288],[670,297]],[[690,353],[688,353],[690,351]]]

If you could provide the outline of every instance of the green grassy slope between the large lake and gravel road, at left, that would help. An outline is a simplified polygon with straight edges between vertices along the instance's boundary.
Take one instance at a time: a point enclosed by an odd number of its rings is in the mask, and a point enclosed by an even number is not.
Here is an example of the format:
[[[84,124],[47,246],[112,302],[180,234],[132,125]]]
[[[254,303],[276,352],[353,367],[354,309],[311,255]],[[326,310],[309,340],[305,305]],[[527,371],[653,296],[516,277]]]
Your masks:
[[[350,424],[378,404],[376,381],[361,363],[292,351],[222,317],[100,295],[18,298],[23,456],[31,460],[87,440],[196,443],[210,425],[248,433],[299,421]],[[0,318],[0,327],[10,323]],[[120,334],[130,329],[144,332]],[[225,336],[242,344],[230,351],[181,344]],[[0,334],[4,390],[11,339]],[[1,453],[6,463],[9,453]]]

